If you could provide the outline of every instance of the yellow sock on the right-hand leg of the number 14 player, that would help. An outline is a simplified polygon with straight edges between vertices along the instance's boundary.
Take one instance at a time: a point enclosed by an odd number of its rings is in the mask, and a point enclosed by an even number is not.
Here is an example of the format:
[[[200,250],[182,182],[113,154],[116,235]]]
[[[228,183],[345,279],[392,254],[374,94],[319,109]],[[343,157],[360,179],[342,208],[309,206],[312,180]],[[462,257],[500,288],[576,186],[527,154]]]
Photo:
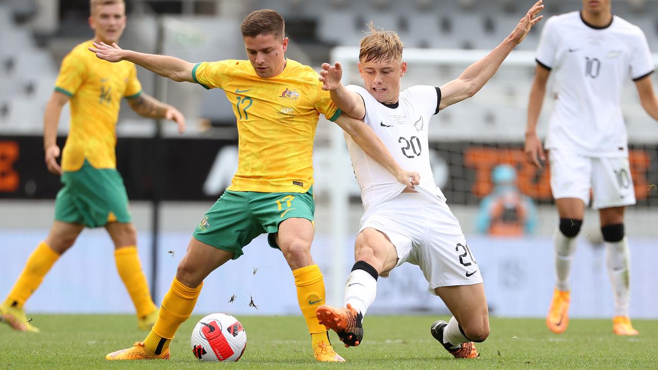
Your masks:
[[[128,246],[114,250],[114,260],[116,261],[116,270],[126,285],[132,303],[135,305],[137,317],[139,319],[147,317],[149,313],[153,313],[157,309],[157,306],[151,299],[149,283],[146,281],[144,272],[141,269],[137,248]]]

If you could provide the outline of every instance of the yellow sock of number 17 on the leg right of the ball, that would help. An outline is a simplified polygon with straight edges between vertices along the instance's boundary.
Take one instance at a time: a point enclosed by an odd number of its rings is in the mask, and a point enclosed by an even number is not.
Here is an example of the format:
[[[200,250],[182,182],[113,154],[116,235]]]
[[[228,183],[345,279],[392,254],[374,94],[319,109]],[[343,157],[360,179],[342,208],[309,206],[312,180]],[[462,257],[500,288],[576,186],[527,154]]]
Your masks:
[[[318,323],[318,317],[315,315],[315,309],[324,304],[324,279],[318,265],[293,270],[292,275],[295,277],[295,286],[297,286],[299,308],[309,327],[313,346],[315,346],[318,340],[327,340],[326,328]]]

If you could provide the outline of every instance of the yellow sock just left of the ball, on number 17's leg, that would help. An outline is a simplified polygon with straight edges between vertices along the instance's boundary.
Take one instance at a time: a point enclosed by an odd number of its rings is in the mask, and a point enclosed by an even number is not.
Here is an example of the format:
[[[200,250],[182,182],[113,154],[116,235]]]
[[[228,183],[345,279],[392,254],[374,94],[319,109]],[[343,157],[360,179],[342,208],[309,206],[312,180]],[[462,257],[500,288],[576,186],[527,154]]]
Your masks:
[[[174,277],[169,291],[164,295],[158,321],[155,322],[153,329],[144,340],[147,350],[159,355],[169,348],[169,343],[174,338],[178,327],[192,314],[201,293],[201,287],[203,287],[203,282],[196,288],[189,288]]]

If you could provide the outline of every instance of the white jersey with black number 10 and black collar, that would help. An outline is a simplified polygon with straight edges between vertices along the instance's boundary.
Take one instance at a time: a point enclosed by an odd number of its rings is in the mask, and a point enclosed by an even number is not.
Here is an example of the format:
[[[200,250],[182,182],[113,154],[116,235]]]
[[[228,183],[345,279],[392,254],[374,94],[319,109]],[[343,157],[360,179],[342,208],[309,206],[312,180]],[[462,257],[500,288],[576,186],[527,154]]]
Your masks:
[[[553,16],[544,25],[536,59],[551,70],[557,91],[545,147],[627,156],[622,86],[653,72],[642,30],[618,16],[602,28],[586,24],[578,11]]]

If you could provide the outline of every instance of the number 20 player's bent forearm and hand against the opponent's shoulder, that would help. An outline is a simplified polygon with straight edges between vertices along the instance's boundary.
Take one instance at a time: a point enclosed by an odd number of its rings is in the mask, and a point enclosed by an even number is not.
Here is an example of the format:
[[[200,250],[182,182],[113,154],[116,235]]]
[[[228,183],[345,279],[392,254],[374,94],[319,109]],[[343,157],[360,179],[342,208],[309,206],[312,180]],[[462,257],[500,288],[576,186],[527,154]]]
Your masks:
[[[366,115],[366,107],[363,98],[358,93],[347,90],[342,82],[343,68],[340,63],[330,65],[322,63],[320,70],[320,81],[322,90],[328,90],[336,107],[354,119],[363,119]]]

